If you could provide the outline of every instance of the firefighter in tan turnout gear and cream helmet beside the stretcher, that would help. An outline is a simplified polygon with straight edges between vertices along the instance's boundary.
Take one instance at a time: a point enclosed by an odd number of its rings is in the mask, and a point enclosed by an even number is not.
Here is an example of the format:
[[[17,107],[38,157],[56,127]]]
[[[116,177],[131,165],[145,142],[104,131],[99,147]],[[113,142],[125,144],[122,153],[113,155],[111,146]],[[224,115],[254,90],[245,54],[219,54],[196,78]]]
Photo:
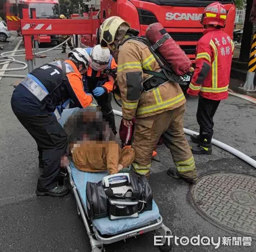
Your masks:
[[[100,27],[101,46],[118,53],[117,83],[122,96],[124,125],[129,127],[136,117],[132,170],[149,178],[152,152],[162,133],[168,130],[171,135],[168,147],[176,166],[175,170],[169,169],[169,175],[194,183],[196,166],[183,131],[184,94],[177,83],[170,81],[158,82],[160,86],[149,88],[145,85],[151,82],[147,82],[150,76],[143,73],[143,69],[161,69],[148,46],[130,37],[137,34],[116,16],[107,18]]]

